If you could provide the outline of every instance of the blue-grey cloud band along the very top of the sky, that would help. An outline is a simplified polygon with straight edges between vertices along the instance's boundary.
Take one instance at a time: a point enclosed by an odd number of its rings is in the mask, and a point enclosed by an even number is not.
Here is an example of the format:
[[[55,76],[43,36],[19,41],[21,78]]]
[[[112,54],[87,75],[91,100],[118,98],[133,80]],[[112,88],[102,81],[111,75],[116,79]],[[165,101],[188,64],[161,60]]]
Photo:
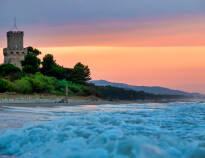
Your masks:
[[[205,12],[202,0],[1,0],[0,10],[2,25],[14,16],[24,24],[61,25]]]

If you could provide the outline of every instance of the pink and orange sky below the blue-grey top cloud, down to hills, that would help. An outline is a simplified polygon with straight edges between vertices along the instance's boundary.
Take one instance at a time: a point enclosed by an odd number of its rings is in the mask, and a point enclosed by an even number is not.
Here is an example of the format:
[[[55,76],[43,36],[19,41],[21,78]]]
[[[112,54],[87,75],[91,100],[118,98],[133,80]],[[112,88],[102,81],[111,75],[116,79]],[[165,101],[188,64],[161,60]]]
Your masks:
[[[81,61],[93,79],[205,94],[204,17],[150,18],[22,30],[26,46],[54,54],[67,67]],[[0,36],[6,47],[6,35]]]

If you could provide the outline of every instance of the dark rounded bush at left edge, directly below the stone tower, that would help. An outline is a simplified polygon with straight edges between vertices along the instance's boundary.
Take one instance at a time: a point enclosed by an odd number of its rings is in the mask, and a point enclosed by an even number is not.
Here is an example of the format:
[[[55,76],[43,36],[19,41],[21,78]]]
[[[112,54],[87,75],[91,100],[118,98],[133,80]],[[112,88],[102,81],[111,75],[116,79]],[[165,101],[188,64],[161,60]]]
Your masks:
[[[22,76],[22,72],[18,67],[12,64],[0,65],[0,77],[13,81],[19,79],[21,76]]]

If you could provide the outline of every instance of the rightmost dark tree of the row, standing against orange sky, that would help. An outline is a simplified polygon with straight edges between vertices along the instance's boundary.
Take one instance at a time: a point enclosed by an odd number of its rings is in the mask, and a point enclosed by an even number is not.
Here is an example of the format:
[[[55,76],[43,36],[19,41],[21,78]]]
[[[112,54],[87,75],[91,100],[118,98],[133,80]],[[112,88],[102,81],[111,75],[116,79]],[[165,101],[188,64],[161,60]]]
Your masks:
[[[91,80],[90,69],[82,63],[77,63],[70,75],[70,81],[78,84],[85,84],[86,81]]]

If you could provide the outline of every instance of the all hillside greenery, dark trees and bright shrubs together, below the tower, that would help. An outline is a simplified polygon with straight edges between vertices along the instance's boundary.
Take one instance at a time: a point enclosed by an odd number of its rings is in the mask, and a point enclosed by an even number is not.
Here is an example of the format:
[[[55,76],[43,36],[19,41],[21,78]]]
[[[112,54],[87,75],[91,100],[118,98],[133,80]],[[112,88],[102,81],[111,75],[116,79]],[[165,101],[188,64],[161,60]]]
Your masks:
[[[22,94],[49,93],[102,97],[93,87],[86,85],[90,80],[90,69],[82,63],[74,68],[65,68],[56,63],[53,55],[46,54],[41,61],[41,52],[28,47],[28,54],[22,61],[22,70],[12,64],[0,65],[0,93],[17,92]]]

